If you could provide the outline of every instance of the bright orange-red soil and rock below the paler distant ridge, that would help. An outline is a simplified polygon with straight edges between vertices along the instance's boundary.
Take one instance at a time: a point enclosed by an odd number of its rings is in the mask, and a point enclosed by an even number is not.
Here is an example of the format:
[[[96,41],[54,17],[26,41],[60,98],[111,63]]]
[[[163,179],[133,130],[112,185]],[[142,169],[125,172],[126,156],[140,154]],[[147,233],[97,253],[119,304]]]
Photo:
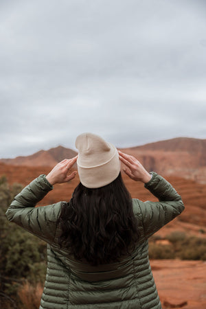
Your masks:
[[[33,168],[0,163],[0,176],[4,174],[10,184],[16,182],[27,185],[39,174],[47,174],[49,170],[47,167]],[[123,178],[133,198],[157,201],[142,183],[131,181],[126,175],[123,175]],[[175,176],[165,178],[181,194],[185,211],[163,227],[158,232],[159,235],[163,237],[172,231],[185,231],[187,235],[205,237],[206,233],[201,231],[206,231],[206,185]],[[55,185],[54,190],[49,192],[39,205],[69,201],[78,182],[76,177],[71,183]],[[163,308],[206,308],[206,262],[152,260],[151,266]]]

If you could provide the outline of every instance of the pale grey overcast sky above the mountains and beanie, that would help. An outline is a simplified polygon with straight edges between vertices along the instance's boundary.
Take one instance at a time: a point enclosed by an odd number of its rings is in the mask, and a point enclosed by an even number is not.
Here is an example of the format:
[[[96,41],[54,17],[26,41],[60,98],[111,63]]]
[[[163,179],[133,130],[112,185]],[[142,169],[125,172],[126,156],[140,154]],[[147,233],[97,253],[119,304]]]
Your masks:
[[[1,0],[0,157],[206,138],[205,0]]]

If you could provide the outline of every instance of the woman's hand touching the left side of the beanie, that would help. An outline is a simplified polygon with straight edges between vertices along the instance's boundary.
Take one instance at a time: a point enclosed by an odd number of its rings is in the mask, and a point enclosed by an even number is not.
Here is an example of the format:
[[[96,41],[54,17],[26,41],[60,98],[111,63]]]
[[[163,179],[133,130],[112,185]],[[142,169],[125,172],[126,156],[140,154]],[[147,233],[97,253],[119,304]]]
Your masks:
[[[76,176],[76,171],[68,175],[69,169],[76,162],[78,156],[73,157],[72,159],[65,159],[60,163],[56,164],[54,168],[47,174],[46,179],[51,185],[56,183],[67,183],[71,181]]]

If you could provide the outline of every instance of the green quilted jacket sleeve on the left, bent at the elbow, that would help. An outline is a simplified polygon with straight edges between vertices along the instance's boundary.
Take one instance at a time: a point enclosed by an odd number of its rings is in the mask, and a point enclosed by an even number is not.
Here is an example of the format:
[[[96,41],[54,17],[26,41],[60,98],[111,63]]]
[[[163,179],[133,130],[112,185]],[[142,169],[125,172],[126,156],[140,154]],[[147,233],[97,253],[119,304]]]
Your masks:
[[[5,216],[8,220],[15,222],[46,242],[52,242],[61,203],[35,207],[36,203],[41,201],[52,189],[53,187],[47,181],[45,175],[38,176],[15,196]]]

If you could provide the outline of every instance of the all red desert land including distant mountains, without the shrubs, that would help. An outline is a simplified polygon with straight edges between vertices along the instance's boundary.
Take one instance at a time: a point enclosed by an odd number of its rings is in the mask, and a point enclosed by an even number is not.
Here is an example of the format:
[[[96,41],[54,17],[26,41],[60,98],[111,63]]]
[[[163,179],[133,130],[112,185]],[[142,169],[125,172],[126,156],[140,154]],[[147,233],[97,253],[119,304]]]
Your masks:
[[[155,242],[170,245],[167,236],[174,232],[188,237],[206,238],[206,140],[177,138],[122,150],[134,155],[147,170],[165,177],[183,198],[185,211],[155,234]],[[59,146],[28,157],[0,160],[0,176],[8,183],[27,185],[40,174],[47,174],[59,161],[76,152]],[[123,174],[133,198],[157,201],[142,183]],[[47,205],[69,201],[78,176],[71,183],[56,185],[39,203]],[[163,308],[206,308],[205,260],[151,260],[151,267]]]

